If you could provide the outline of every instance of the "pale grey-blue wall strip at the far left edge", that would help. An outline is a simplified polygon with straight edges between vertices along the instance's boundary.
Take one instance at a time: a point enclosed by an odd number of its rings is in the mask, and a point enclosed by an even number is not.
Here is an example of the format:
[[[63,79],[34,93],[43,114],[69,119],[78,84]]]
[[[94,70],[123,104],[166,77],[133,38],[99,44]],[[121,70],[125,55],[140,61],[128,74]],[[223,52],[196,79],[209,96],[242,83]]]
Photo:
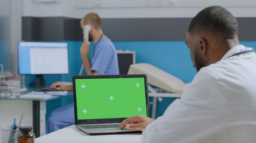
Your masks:
[[[22,39],[22,0],[0,1],[0,63],[18,73],[17,42]]]

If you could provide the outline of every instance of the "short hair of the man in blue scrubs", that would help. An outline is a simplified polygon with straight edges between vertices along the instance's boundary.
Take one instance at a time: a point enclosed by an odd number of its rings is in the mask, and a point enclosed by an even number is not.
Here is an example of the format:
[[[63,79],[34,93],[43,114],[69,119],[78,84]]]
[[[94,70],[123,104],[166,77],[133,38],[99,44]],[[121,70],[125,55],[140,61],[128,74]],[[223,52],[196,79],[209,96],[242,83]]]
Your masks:
[[[82,18],[83,24],[92,24],[95,29],[101,29],[101,18],[96,13],[88,13]]]

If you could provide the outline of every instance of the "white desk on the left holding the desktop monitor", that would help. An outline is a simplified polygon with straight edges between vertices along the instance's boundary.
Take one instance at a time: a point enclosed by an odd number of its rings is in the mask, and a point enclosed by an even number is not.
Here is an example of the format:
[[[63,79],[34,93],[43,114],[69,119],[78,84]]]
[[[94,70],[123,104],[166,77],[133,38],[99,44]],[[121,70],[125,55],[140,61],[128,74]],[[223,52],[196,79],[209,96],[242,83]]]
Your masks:
[[[46,132],[46,101],[73,97],[73,95],[67,95],[64,97],[54,96],[49,99],[39,99],[20,98],[18,95],[0,97],[0,114],[4,115],[0,116],[0,127],[10,126],[14,117],[17,117],[17,122],[19,122],[21,114],[24,113],[22,126],[33,126],[36,136],[45,135]]]

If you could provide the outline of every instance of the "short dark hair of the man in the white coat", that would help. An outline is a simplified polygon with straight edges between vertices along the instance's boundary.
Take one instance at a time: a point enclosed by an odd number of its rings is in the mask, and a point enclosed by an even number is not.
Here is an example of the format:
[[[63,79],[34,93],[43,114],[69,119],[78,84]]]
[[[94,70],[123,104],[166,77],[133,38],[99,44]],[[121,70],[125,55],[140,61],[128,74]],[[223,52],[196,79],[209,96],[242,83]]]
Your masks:
[[[236,18],[220,6],[212,6],[204,8],[194,18],[188,28],[189,33],[197,33],[200,31],[209,34],[221,34],[222,38],[233,39],[238,35],[238,24]]]

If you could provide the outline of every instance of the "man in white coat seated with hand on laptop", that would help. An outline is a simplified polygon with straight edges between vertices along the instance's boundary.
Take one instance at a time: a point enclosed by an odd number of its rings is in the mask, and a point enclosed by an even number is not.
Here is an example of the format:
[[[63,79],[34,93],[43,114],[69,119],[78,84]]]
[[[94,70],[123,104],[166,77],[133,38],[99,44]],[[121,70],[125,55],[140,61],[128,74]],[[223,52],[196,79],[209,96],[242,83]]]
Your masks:
[[[191,85],[163,116],[129,117],[120,128],[143,131],[142,142],[255,142],[256,54],[237,33],[225,8],[200,11],[186,35],[198,71]]]

